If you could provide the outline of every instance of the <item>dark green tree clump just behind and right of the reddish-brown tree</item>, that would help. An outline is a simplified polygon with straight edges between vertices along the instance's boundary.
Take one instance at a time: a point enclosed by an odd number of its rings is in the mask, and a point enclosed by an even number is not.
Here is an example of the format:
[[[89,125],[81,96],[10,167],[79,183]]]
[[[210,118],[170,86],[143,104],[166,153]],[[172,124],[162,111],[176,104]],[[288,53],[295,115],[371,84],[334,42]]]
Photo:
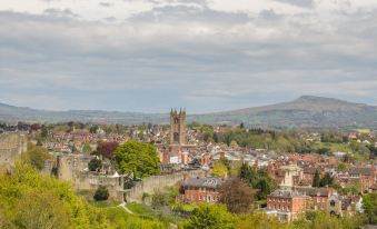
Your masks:
[[[258,200],[266,199],[267,195],[276,188],[277,183],[267,169],[256,169],[244,163],[239,170],[239,178],[247,181],[252,189],[257,189]]]

